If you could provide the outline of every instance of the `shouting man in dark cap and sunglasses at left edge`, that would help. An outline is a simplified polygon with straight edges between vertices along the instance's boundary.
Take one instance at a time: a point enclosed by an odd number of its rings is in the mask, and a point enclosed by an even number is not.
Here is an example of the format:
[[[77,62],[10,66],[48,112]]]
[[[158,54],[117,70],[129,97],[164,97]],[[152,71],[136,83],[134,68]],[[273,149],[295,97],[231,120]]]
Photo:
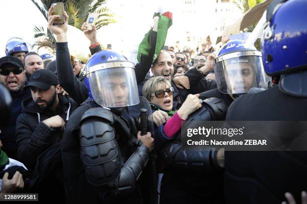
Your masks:
[[[4,150],[9,157],[16,159],[16,119],[22,111],[21,103],[31,96],[29,89],[25,87],[24,65],[16,57],[6,56],[0,59],[0,81],[10,91],[12,97],[11,113],[7,124],[0,124],[2,135],[0,137]]]

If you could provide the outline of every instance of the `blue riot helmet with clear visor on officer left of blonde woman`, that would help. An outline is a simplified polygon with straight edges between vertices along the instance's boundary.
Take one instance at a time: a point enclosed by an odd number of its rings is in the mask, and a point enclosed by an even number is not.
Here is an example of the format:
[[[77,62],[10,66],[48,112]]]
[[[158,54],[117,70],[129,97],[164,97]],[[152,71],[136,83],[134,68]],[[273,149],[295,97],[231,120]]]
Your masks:
[[[139,103],[134,64],[110,50],[94,54],[86,63],[84,83],[98,105],[118,108]]]

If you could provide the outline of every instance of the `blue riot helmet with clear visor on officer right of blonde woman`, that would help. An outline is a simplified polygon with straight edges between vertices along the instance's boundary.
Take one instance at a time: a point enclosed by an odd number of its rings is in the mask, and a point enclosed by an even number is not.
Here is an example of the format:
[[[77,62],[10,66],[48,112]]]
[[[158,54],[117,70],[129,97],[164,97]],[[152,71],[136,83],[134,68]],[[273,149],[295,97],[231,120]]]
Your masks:
[[[261,52],[244,48],[245,41],[227,42],[214,60],[217,87],[225,94],[243,94],[249,89],[267,88]]]

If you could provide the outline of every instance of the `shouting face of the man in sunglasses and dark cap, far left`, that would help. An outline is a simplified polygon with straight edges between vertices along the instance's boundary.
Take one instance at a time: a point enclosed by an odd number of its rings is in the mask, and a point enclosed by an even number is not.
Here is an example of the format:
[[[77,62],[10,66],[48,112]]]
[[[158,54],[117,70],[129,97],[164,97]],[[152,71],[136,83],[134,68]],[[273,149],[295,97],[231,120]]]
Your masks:
[[[25,86],[25,71],[23,71],[21,74],[14,74],[13,70],[16,70],[17,67],[10,64],[3,69],[11,70],[8,76],[0,75],[0,81],[3,83],[3,85],[5,85],[11,92],[21,91]]]

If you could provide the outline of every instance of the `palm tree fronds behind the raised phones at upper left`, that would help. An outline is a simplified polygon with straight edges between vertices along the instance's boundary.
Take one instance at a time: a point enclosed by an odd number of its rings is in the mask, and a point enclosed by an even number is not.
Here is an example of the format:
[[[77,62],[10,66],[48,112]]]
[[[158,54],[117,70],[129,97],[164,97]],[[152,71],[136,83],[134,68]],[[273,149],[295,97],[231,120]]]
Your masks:
[[[48,22],[48,10],[53,3],[63,2],[65,11],[69,16],[68,24],[81,30],[83,22],[86,21],[87,17],[91,13],[98,14],[96,22],[96,29],[100,29],[111,23],[115,23],[114,14],[106,7],[102,7],[106,0],[40,0],[42,7],[38,4],[38,1],[31,0],[33,4],[40,10],[46,21]],[[34,27],[34,38],[40,38],[36,45],[38,49],[47,47],[55,52],[55,39],[52,33],[47,29],[45,32],[42,26]]]

